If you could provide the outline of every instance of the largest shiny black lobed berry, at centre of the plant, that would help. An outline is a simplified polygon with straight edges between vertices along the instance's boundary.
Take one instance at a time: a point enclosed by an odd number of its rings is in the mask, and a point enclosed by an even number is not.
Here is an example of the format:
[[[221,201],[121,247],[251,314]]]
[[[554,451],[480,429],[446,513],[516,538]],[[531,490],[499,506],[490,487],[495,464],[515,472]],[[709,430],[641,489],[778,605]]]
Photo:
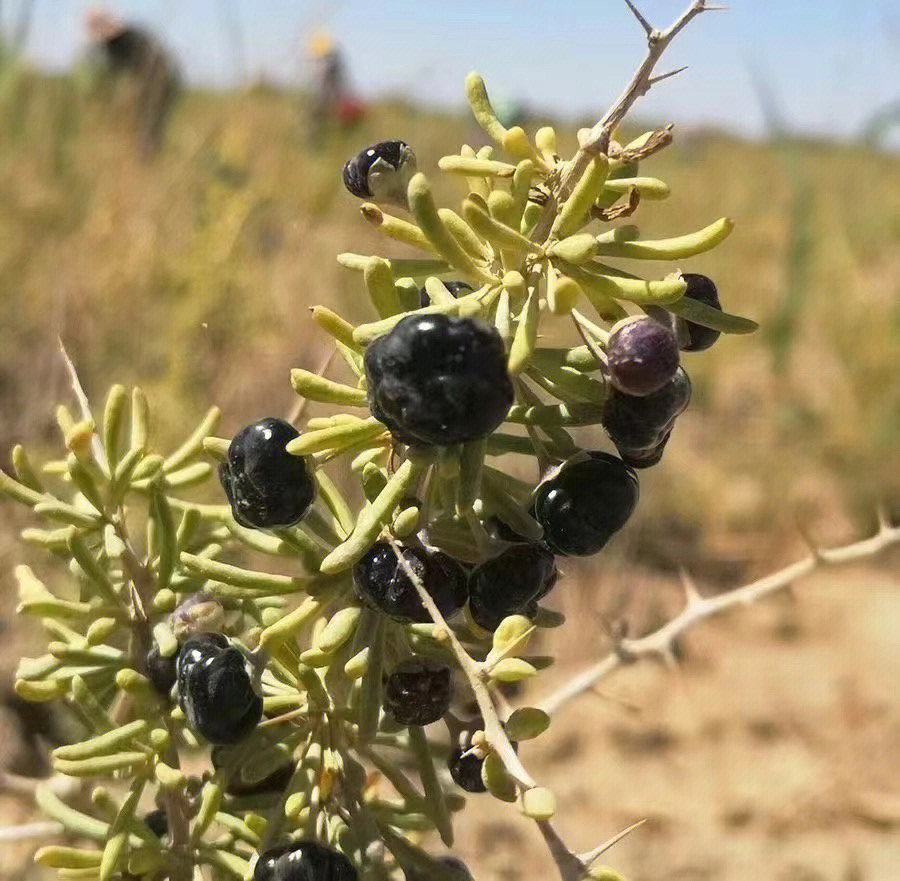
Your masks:
[[[503,340],[472,318],[407,316],[366,349],[364,365],[372,415],[401,443],[485,437],[513,401]]]

